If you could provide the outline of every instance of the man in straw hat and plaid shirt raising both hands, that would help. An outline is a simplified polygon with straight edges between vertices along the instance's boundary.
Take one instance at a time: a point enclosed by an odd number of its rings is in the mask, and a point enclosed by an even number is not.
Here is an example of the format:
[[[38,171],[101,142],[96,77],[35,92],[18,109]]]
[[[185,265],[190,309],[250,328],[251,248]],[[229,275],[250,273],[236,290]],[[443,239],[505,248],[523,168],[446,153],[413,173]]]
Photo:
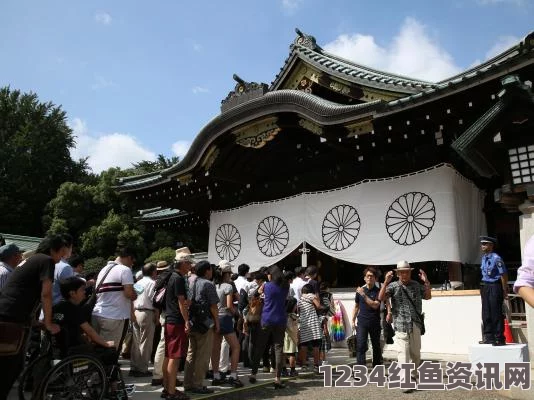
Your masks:
[[[393,271],[397,273],[399,280],[392,283]],[[393,271],[386,274],[378,297],[380,301],[391,302],[391,307],[388,308],[391,311],[388,312],[386,320],[391,322],[393,319],[395,325],[399,364],[407,364],[411,360],[417,369],[421,364],[421,329],[424,323],[421,317],[422,299],[432,298],[430,282],[422,269],[419,270],[419,278],[423,285],[412,280],[413,268],[408,261],[399,261]],[[415,389],[415,382],[409,382],[405,376],[401,387],[405,389],[405,393],[411,393]]]

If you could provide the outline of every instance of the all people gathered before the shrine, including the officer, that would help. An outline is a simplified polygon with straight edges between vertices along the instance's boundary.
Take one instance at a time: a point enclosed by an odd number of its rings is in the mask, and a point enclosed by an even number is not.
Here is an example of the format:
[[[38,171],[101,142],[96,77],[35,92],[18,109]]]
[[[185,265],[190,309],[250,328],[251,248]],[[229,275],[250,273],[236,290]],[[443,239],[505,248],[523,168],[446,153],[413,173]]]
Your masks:
[[[483,277],[500,282],[506,270],[491,253],[492,238],[481,242],[488,259],[485,263],[483,257]],[[130,359],[130,376],[152,377],[153,386],[163,387],[161,397],[171,400],[213,393],[208,386],[242,387],[240,362],[250,369],[250,383],[257,381],[260,365],[274,373],[276,389],[285,388],[282,377],[297,376],[297,368],[318,373],[327,362],[334,300],[313,265],[294,271],[272,265],[250,272],[248,265],[235,268],[227,260],[195,263],[182,247],[173,263],[147,263],[134,277],[136,254],[124,247],[98,275],[84,275],[83,259],[72,255],[72,245],[69,235],[49,236],[35,254],[24,257],[16,245],[0,247],[0,398],[7,398],[23,369],[35,330],[49,332],[60,357],[90,354],[107,371],[113,371],[122,353]],[[529,262],[525,268],[531,267]],[[431,290],[425,272],[419,270],[419,279],[413,280],[412,270],[400,261],[383,283],[380,270],[363,271],[365,284],[356,289],[352,314],[358,364],[366,364],[368,338],[372,365],[383,363],[391,323],[398,362],[420,364],[422,300],[431,298]],[[532,290],[528,279],[518,282],[517,290]],[[490,335],[488,321],[484,340],[499,343],[501,332]],[[180,372],[183,381],[177,378]],[[112,390],[117,379],[110,372]],[[206,379],[211,385],[205,385]]]

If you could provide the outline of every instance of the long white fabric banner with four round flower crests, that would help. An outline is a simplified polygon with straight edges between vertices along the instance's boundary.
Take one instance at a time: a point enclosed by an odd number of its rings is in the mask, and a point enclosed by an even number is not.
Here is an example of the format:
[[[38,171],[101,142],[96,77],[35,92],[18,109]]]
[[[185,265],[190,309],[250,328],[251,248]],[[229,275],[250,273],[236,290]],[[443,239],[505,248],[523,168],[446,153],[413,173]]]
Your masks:
[[[449,165],[213,211],[208,258],[272,265],[306,241],[345,261],[478,262],[483,193]]]

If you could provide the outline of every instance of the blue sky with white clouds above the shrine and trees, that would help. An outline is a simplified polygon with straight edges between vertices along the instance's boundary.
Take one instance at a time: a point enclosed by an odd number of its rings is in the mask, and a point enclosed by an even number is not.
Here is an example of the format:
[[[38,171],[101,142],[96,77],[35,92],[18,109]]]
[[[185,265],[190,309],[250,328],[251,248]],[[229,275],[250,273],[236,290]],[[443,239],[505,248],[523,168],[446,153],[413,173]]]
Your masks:
[[[61,104],[75,157],[183,156],[233,89],[270,83],[295,27],[355,62],[445,79],[534,30],[534,0],[3,0],[0,86]]]

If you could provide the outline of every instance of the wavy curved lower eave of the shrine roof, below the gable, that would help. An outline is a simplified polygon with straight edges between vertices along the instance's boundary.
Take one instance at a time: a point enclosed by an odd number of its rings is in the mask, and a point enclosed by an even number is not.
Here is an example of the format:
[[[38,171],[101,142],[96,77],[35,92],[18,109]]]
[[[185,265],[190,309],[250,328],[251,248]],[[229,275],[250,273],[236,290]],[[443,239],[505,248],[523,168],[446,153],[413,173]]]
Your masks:
[[[187,154],[178,164],[159,171],[155,176],[152,173],[130,177],[127,181],[119,180],[119,185],[115,188],[121,192],[135,191],[169,181],[172,176],[188,173],[196,167],[209,145],[219,136],[229,129],[270,114],[292,112],[320,125],[335,125],[353,121],[355,117],[373,114],[385,105],[383,100],[343,105],[310,93],[289,89],[267,92],[262,97],[240,104],[213,118],[200,130]]]

